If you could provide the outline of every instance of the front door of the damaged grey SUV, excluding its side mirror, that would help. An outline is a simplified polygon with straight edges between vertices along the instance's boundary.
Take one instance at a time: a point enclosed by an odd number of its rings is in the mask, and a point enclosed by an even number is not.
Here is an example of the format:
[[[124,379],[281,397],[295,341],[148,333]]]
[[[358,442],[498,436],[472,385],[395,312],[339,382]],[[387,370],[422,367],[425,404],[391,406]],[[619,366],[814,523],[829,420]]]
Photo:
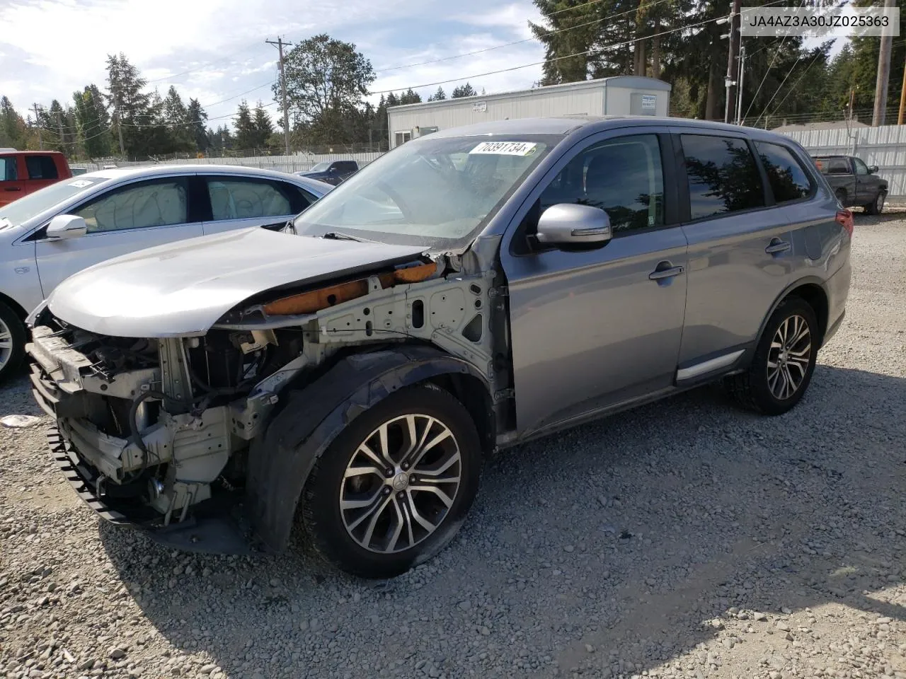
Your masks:
[[[554,167],[508,247],[505,241],[519,435],[672,384],[687,244],[674,194],[665,201],[664,187],[673,185],[669,144],[639,129],[597,136]],[[533,244],[537,217],[560,203],[605,210],[612,240],[573,251]]]

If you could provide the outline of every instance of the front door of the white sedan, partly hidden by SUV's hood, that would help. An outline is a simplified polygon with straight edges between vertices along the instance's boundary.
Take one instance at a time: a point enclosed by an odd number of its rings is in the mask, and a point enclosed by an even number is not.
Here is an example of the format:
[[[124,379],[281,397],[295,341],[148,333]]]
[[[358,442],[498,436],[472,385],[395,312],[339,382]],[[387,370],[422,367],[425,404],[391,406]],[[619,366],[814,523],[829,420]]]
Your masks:
[[[64,279],[92,264],[202,235],[200,222],[188,221],[187,177],[117,186],[73,208],[69,214],[83,217],[88,233],[37,242],[38,275],[45,298]]]

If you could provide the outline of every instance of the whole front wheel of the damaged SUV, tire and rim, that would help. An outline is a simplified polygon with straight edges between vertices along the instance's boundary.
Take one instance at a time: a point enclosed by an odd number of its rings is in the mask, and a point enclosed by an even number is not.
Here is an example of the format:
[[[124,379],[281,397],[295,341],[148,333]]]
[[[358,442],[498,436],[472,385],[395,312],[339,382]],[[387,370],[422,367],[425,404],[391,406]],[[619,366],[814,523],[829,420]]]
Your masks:
[[[456,535],[481,457],[475,424],[455,397],[433,385],[401,389],[356,417],[315,464],[304,530],[352,575],[400,575]]]

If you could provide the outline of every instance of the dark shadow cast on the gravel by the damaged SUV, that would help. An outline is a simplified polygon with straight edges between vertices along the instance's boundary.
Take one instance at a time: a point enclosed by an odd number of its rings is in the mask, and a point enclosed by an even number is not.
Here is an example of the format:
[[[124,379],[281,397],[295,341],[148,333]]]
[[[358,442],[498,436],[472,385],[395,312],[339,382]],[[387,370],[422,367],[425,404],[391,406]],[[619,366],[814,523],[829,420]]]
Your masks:
[[[629,676],[696,653],[728,612],[772,632],[830,603],[906,621],[886,593],[906,563],[906,379],[819,366],[773,418],[720,394],[496,456],[448,550],[389,583],[300,545],[250,560],[106,524],[101,540],[160,633],[237,677]]]

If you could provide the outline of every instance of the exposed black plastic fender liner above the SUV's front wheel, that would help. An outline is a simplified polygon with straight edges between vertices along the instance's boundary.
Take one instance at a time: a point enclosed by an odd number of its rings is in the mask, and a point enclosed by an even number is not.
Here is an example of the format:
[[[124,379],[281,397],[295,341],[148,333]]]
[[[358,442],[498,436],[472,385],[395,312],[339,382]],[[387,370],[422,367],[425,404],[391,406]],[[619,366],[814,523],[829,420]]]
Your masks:
[[[352,420],[401,387],[448,374],[472,375],[487,387],[462,359],[433,347],[402,345],[353,354],[312,384],[285,391],[248,455],[246,514],[266,550],[286,548],[314,462]]]

